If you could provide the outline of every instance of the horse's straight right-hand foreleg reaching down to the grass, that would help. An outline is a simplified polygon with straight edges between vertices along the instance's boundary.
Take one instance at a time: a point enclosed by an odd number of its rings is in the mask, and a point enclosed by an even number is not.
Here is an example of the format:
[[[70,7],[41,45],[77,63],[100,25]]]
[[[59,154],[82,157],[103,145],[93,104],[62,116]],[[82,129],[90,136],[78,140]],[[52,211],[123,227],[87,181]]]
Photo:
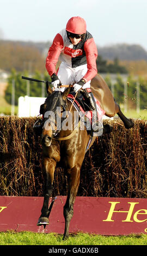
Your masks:
[[[63,239],[69,236],[69,225],[74,214],[74,202],[78,191],[80,167],[76,165],[68,171],[68,197],[64,205],[65,230]]]

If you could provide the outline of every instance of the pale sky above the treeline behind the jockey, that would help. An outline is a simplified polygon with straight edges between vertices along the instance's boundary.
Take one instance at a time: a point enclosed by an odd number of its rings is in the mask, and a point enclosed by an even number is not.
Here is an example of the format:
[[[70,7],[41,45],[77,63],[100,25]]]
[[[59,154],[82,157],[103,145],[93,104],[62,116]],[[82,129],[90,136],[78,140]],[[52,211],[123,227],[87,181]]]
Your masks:
[[[147,0],[0,0],[0,39],[52,41],[72,16],[83,17],[98,47],[147,50]]]

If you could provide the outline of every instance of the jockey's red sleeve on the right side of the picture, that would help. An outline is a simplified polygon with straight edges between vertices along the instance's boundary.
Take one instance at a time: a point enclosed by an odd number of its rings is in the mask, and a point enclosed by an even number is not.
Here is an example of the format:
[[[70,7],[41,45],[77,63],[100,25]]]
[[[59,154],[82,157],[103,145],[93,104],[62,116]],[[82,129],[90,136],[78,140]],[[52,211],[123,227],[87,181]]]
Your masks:
[[[88,71],[83,78],[88,82],[97,74],[96,58],[98,53],[97,53],[97,47],[93,38],[90,38],[85,42],[84,51],[86,53]]]

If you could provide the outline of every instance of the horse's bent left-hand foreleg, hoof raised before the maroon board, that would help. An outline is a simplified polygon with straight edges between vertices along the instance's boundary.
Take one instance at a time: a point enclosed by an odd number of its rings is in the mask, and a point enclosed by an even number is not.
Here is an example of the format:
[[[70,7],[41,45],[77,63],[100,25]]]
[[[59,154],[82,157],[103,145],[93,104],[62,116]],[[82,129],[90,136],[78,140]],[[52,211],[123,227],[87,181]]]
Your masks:
[[[56,161],[48,157],[44,157],[42,161],[42,168],[45,172],[45,190],[44,190],[44,204],[41,209],[41,216],[38,220],[38,225],[48,224],[48,202],[53,191],[54,170],[56,168]]]

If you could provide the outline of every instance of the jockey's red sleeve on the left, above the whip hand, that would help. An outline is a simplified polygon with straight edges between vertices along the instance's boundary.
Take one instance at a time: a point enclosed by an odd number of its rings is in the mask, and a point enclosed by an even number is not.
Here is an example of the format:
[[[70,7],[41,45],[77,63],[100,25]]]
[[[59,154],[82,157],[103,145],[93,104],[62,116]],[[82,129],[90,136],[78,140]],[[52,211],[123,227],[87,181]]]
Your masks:
[[[58,58],[62,51],[63,46],[64,46],[63,38],[58,33],[53,40],[53,44],[50,47],[47,54],[47,58],[46,58],[46,69],[50,76],[53,73],[56,73],[56,64],[58,62]]]

